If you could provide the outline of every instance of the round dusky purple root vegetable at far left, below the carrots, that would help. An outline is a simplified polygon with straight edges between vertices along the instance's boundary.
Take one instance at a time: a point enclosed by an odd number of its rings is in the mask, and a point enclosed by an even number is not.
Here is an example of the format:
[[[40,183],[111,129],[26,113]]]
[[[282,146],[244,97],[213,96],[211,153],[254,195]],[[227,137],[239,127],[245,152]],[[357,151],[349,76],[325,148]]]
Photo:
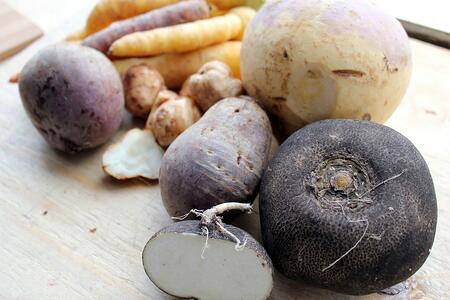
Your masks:
[[[63,43],[42,49],[21,71],[19,90],[33,125],[63,152],[105,143],[122,122],[120,76],[91,48]]]

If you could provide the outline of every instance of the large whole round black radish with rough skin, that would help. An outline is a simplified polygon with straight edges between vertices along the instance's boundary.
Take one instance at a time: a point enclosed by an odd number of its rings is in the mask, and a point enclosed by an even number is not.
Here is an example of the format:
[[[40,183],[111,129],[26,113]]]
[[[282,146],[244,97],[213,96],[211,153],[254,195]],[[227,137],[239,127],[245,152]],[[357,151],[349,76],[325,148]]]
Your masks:
[[[280,146],[261,183],[260,219],[264,246],[283,274],[362,295],[423,265],[436,195],[406,137],[371,122],[326,120]]]

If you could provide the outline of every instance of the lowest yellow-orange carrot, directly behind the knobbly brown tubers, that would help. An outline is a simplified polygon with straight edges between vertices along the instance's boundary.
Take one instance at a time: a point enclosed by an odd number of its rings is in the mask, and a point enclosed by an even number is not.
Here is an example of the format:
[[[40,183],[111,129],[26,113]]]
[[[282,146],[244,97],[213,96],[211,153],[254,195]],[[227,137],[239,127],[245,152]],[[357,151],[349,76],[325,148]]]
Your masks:
[[[168,88],[177,89],[201,66],[213,60],[228,64],[233,75],[240,78],[239,59],[241,42],[232,41],[187,53],[163,54],[151,58],[129,58],[113,61],[123,77],[135,65],[145,64],[161,73]]]

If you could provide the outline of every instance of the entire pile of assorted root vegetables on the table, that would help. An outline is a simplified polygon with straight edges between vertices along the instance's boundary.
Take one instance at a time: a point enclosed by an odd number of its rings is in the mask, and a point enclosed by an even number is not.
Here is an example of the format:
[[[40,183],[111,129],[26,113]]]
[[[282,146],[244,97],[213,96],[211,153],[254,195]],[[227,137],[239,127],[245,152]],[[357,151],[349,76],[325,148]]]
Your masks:
[[[146,120],[102,166],[118,180],[159,180],[179,222],[142,259],[166,293],[264,300],[271,258],[287,277],[346,294],[406,280],[436,230],[425,161],[385,126],[316,122],[392,114],[411,74],[404,30],[365,1],[272,0],[256,12],[263,2],[101,0],[70,42],[41,50],[10,82],[64,152],[107,142],[124,108]],[[280,147],[273,132],[287,138]],[[251,212],[258,193],[271,258],[222,220]]]

